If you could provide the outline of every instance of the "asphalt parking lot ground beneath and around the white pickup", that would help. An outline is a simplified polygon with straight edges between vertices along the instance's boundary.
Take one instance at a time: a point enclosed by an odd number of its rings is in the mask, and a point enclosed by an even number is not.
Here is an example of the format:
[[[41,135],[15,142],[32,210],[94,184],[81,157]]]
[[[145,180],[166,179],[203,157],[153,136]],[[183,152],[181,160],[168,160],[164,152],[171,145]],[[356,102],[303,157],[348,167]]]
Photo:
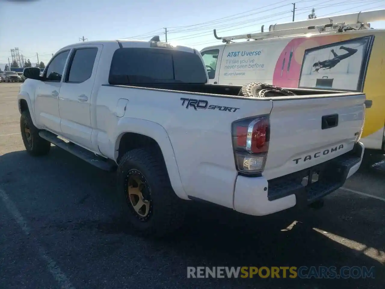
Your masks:
[[[114,173],[57,147],[25,152],[19,86],[0,83],[0,288],[383,288],[383,157],[320,210],[256,218],[194,203],[176,234],[145,239],[123,221]],[[187,279],[188,266],[374,266],[375,276]]]

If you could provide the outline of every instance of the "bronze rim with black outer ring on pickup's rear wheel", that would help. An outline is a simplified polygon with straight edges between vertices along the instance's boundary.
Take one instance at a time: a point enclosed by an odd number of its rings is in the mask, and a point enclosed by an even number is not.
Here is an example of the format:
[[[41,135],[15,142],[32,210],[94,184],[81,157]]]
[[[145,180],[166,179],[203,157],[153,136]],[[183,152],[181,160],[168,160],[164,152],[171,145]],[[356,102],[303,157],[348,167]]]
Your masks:
[[[138,170],[129,170],[124,187],[126,201],[132,213],[142,222],[149,220],[152,216],[152,199],[144,175]]]

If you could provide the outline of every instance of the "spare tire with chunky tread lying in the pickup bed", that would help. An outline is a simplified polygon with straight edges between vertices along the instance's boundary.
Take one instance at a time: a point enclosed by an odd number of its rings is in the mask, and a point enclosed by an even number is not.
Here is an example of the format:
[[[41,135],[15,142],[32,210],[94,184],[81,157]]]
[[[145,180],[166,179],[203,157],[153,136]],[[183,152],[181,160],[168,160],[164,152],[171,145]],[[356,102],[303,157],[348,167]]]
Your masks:
[[[282,87],[261,82],[249,82],[242,86],[238,96],[244,97],[273,97],[295,96],[296,94]]]

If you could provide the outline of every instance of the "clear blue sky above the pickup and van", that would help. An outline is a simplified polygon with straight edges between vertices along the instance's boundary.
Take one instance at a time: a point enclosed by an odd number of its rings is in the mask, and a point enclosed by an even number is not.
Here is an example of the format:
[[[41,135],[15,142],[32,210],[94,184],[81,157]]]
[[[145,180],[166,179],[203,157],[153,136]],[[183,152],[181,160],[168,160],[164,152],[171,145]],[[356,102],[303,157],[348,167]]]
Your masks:
[[[270,24],[290,22],[295,0],[0,0],[0,63],[11,59],[10,49],[32,63],[47,62],[61,47],[88,40],[160,35],[199,50],[220,43],[213,36],[247,34]],[[384,0],[299,0],[295,20],[304,20],[315,8],[318,17],[385,8]],[[23,17],[26,17],[23,19]],[[9,27],[5,25],[9,24]],[[385,21],[372,27],[385,28]],[[0,66],[3,69],[3,66]]]

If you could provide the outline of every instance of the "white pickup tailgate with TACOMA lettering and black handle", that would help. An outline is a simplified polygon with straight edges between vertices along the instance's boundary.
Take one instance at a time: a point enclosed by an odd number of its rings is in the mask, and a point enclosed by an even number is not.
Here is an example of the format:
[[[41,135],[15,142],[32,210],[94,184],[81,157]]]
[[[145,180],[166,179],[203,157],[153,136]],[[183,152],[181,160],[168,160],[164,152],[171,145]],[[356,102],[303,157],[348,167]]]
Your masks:
[[[353,149],[363,126],[365,94],[274,99],[263,175],[277,178]]]

